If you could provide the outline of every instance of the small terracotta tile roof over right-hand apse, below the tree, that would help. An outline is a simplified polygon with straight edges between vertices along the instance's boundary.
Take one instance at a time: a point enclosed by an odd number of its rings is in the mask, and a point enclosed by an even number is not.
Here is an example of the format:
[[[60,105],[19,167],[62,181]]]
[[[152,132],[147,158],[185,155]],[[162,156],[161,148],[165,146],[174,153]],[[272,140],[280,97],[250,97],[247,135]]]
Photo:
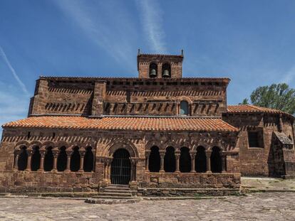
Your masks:
[[[293,117],[291,114],[282,112],[278,109],[271,109],[266,107],[258,107],[251,104],[228,105],[227,112],[229,113],[271,113],[271,114],[286,114]]]

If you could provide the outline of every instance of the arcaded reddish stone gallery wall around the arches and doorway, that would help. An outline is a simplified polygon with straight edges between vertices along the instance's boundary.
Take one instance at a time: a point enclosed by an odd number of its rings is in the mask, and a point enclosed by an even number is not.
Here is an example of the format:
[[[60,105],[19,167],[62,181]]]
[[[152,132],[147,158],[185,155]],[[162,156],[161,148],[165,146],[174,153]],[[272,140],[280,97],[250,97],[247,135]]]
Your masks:
[[[30,132],[30,133],[29,133]],[[55,136],[53,137],[53,133]],[[30,134],[30,136],[28,136]],[[235,148],[237,133],[229,132],[155,132],[155,131],[93,131],[83,129],[40,129],[40,128],[4,128],[0,146],[0,178],[3,191],[92,191],[100,185],[105,176],[110,183],[110,166],[105,159],[111,158],[120,148],[128,150],[136,162],[136,182],[138,185],[153,186],[150,174],[160,178],[158,186],[167,186],[162,180],[175,180],[169,187],[175,188],[237,188],[239,183],[239,150]],[[50,144],[53,151],[66,146],[72,151],[78,146],[83,151],[91,146],[95,153],[93,172],[58,172],[58,171],[12,171],[14,169],[15,149],[24,145],[27,149],[40,146],[45,150]],[[186,146],[192,153],[197,146],[206,150],[219,146],[226,156],[226,173],[148,173],[146,151],[152,146],[164,151],[172,146],[180,152]],[[106,175],[105,175],[106,174]],[[159,179],[158,179],[159,180]],[[237,182],[236,184],[234,184]],[[149,184],[150,183],[150,184]],[[169,183],[169,182],[168,182]],[[48,188],[47,190],[45,188]]]

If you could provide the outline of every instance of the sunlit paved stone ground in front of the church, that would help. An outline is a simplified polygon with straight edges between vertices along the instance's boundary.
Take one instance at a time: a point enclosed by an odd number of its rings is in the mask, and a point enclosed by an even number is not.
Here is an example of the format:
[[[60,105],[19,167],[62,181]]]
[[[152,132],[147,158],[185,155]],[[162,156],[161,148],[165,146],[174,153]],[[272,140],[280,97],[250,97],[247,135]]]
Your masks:
[[[143,200],[128,205],[0,198],[0,220],[295,220],[295,193],[252,193],[209,200]]]

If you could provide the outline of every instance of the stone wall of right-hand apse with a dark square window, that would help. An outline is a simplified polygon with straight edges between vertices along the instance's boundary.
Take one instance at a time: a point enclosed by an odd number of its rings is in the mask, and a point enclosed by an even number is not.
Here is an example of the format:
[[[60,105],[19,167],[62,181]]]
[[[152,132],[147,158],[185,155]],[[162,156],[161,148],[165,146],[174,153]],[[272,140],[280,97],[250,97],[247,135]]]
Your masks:
[[[232,124],[240,129],[239,141],[239,158],[241,162],[241,173],[243,176],[272,176],[271,163],[271,142],[274,131],[280,128],[287,136],[290,135],[294,140],[294,131],[292,128],[293,120],[289,117],[282,117],[282,125],[279,124],[279,114],[262,114],[262,113],[244,113],[244,114],[223,114],[225,122]],[[249,147],[248,131],[262,131],[259,135],[259,147]],[[292,147],[294,150],[294,146]],[[290,156],[287,156],[287,155]],[[294,151],[286,154],[287,158],[294,161]]]

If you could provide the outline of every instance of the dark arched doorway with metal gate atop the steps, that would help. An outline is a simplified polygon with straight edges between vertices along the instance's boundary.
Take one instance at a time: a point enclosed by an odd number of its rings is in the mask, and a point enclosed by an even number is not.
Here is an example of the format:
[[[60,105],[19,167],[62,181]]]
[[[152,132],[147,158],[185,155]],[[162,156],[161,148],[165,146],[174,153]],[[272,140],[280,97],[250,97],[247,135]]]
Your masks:
[[[110,182],[113,184],[129,184],[130,175],[130,154],[125,149],[118,149],[113,154],[113,161],[110,166]]]

